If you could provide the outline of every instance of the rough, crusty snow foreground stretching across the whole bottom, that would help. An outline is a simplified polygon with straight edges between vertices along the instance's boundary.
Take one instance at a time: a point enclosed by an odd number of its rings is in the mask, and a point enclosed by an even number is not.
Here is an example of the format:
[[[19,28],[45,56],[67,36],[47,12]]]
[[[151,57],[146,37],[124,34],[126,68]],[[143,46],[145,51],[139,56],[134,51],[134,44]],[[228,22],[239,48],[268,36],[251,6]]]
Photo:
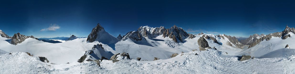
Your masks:
[[[195,55],[195,54],[199,55]],[[238,61],[237,57],[213,49],[193,51],[176,57],[156,60],[137,61],[124,59],[113,63],[103,60],[101,66],[94,61],[83,63],[51,64],[41,62],[37,57],[15,52],[0,55],[2,73],[66,73],[66,74],[290,74],[294,73],[295,56],[283,58],[254,58]],[[132,56],[132,55],[130,55]]]

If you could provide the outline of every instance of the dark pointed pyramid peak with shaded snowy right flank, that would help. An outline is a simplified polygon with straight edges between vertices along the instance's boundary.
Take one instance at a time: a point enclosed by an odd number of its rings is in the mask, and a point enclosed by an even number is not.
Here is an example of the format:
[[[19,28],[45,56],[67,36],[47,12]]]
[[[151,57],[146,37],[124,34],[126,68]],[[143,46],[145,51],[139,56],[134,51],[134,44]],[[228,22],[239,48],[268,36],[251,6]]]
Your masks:
[[[111,44],[111,43],[117,43],[119,40],[110,35],[108,32],[104,30],[104,27],[102,27],[99,23],[96,27],[94,27],[91,31],[91,33],[88,35],[87,42],[94,42],[98,41],[103,44]]]

